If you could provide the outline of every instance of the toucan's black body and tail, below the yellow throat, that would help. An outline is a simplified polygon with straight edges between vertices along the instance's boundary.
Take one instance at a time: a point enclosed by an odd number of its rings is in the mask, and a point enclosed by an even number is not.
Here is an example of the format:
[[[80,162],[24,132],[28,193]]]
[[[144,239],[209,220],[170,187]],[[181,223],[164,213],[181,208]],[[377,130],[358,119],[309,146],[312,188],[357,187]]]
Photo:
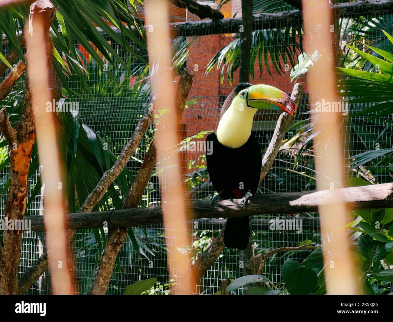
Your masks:
[[[262,149],[252,133],[248,141],[236,149],[222,145],[215,133],[206,138],[211,145],[211,155],[206,155],[210,180],[216,191],[224,192],[224,199],[242,198],[247,191],[257,192],[262,166]],[[228,248],[245,249],[250,229],[248,217],[228,218],[224,232],[224,244]]]

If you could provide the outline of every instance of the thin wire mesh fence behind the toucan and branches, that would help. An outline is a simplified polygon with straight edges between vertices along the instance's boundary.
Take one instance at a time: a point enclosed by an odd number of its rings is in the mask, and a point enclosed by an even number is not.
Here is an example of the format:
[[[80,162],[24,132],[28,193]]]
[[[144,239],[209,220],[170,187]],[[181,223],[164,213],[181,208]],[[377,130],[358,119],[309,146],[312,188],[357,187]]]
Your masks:
[[[223,1],[222,1],[223,2]],[[285,2],[279,2],[281,7],[274,1],[266,5],[266,1],[254,2],[253,13],[273,12],[294,9]],[[221,11],[225,11],[225,17],[241,17],[241,1],[232,0],[221,4],[217,2],[208,2],[211,6],[218,6]],[[143,8],[140,14],[143,15]],[[186,11],[185,9],[176,9],[170,11],[171,22],[181,21],[197,21],[198,18]],[[360,14],[360,13],[359,13]],[[364,13],[362,13],[364,15]],[[393,14],[393,13],[392,13]],[[371,30],[377,30],[378,26],[385,28],[389,33],[393,33],[391,22],[393,15],[385,15],[377,18],[362,18],[358,20],[337,18],[338,32],[336,35],[340,38],[340,47],[337,48],[337,57],[339,63],[343,63],[343,56],[348,55],[344,50],[343,43],[351,42],[354,37],[354,29],[358,28],[358,35],[361,33],[369,33],[368,39],[375,43],[382,42],[384,35],[381,33],[371,33]],[[362,20],[362,21],[359,21]],[[301,99],[298,113],[292,122],[292,126],[285,136],[285,140],[290,140],[289,148],[283,147],[277,156],[274,165],[268,175],[264,178],[258,189],[259,194],[268,193],[286,193],[304,190],[314,190],[316,179],[312,151],[312,128],[310,126],[310,106],[309,96],[307,94],[307,82],[305,71],[307,67],[299,66],[301,64],[298,56],[303,53],[301,49],[301,21],[293,21],[292,28],[283,22],[282,26],[275,26],[271,29],[258,29],[253,31],[252,55],[253,66],[253,84],[268,84],[280,88],[290,94],[295,79],[301,82],[305,87],[305,94]],[[295,26],[297,26],[295,28]],[[361,27],[366,26],[366,27]],[[219,121],[219,108],[224,102],[226,96],[231,92],[233,86],[238,83],[238,66],[239,62],[234,59],[230,61],[231,53],[238,50],[236,42],[238,40],[237,33],[239,30],[233,28],[231,33],[211,34],[206,30],[206,35],[198,37],[183,37],[187,45],[188,56],[184,64],[178,68],[181,72],[182,68],[187,66],[196,74],[193,86],[188,98],[187,107],[184,111],[181,126],[179,129],[179,137],[181,139],[191,138],[191,140],[203,140],[206,131],[214,131]],[[113,39],[107,37],[108,42],[117,48]],[[72,81],[74,100],[79,104],[79,117],[83,123],[94,131],[108,143],[108,149],[118,155],[123,146],[130,140],[132,132],[145,112],[147,106],[151,102],[149,85],[146,83],[139,89],[138,93],[135,88],[138,83],[133,83],[135,79],[126,80],[129,82],[129,91],[117,92],[118,88],[108,79],[102,68],[93,66],[93,61],[88,54],[83,53],[83,48],[79,44],[75,44],[81,49],[82,55],[86,59],[86,64],[92,67],[89,74],[91,85],[97,90],[93,91],[90,96],[84,91],[84,84],[80,81]],[[229,46],[228,46],[229,45]],[[232,48],[232,46],[234,48]],[[226,48],[226,51],[223,50]],[[393,52],[391,44],[384,42],[380,44],[380,48],[388,52]],[[225,59],[217,59],[217,53],[221,51]],[[2,53],[7,53],[7,42],[2,45]],[[228,53],[228,55],[225,55]],[[120,53],[121,54],[121,53]],[[313,53],[306,53],[302,58],[311,59]],[[239,53],[235,55],[238,57]],[[147,53],[143,56],[147,59]],[[216,57],[216,58],[215,58]],[[127,57],[122,57],[127,59]],[[348,58],[348,57],[346,57]],[[341,60],[340,60],[341,59]],[[233,64],[232,64],[233,63]],[[131,70],[136,70],[139,66],[134,63]],[[209,69],[208,66],[211,66]],[[94,67],[94,68],[93,68]],[[122,77],[123,68],[115,66],[118,69],[118,77]],[[233,71],[232,71],[233,70]],[[303,72],[299,72],[299,70]],[[233,72],[233,74],[232,74]],[[295,77],[294,77],[295,76]],[[137,82],[140,81],[137,79]],[[371,103],[370,103],[371,105]],[[351,111],[357,110],[360,105],[351,104]],[[313,107],[311,107],[312,109]],[[364,108],[364,105],[363,105]],[[351,118],[343,122],[345,132],[345,155],[351,157],[358,153],[373,150],[378,144],[378,148],[386,148],[392,146],[392,115],[384,116],[373,123],[366,123],[373,114],[365,114],[358,118]],[[274,131],[275,123],[279,116],[278,112],[259,111],[257,112],[253,131],[255,131],[259,142],[263,149],[268,146]],[[127,164],[132,175],[136,175],[140,168],[141,162],[146,154],[148,145],[152,141],[154,125],[152,125],[145,137],[141,141],[136,153],[132,156]],[[294,144],[293,144],[294,143]],[[2,148],[2,155],[6,155],[6,148]],[[187,199],[205,199],[211,197],[215,191],[208,182],[208,172],[206,169],[206,155],[202,151],[184,151],[182,152],[182,171],[184,174],[185,185],[187,187]],[[374,160],[375,163],[380,159]],[[369,179],[367,171],[368,167],[373,167],[372,173],[375,183],[391,182],[391,173],[389,171],[379,172],[386,169],[375,164],[365,164],[364,171],[360,169],[352,169],[348,171],[349,176],[358,176]],[[359,171],[359,172],[358,172]],[[4,217],[4,202],[7,198],[6,182],[9,177],[9,167],[1,170],[1,188],[4,190],[1,199],[1,215]],[[29,180],[29,189],[33,189],[37,184],[40,169]],[[116,181],[114,186],[119,183]],[[105,197],[108,208],[113,205],[109,196]],[[160,188],[158,184],[157,174],[154,172],[151,180],[143,195],[141,206],[156,206],[160,204]],[[42,215],[43,193],[39,193],[29,204],[26,215]],[[301,232],[296,230],[271,230],[269,229],[270,219],[276,217],[282,219],[302,219]],[[200,219],[190,221],[189,235],[191,245],[188,251],[192,254],[192,259],[198,256],[208,245],[213,235],[217,236],[224,220],[219,219]],[[112,278],[108,287],[107,294],[122,294],[125,286],[156,277],[158,284],[155,289],[148,291],[152,294],[167,294],[169,285],[174,281],[168,280],[167,272],[167,244],[171,244],[173,239],[172,224],[157,224],[145,227],[132,227],[136,242],[134,243],[129,236],[119,253],[116,266],[112,274]],[[299,213],[299,214],[279,214],[279,215],[258,215],[252,218],[253,230],[253,253],[279,248],[283,246],[298,246],[302,241],[321,242],[320,224],[318,221],[318,213]],[[78,294],[85,294],[90,289],[101,257],[103,247],[105,247],[105,234],[107,229],[93,230],[81,229],[73,239],[71,247],[72,252],[72,268],[74,277],[74,287]],[[42,254],[45,246],[44,233],[24,233],[22,244],[22,254],[20,261],[20,274],[30,267]],[[264,275],[269,278],[275,285],[283,283],[280,277],[280,267],[287,258],[302,261],[307,257],[310,251],[299,252],[283,252],[272,257],[265,264]],[[211,267],[208,272],[201,278],[197,285],[196,293],[214,294],[219,290],[219,281],[225,278],[237,278],[242,276],[244,262],[241,253],[238,250],[224,248],[224,251]],[[181,278],[181,277],[180,277]],[[239,290],[239,292],[242,292]],[[50,293],[50,277],[46,271],[43,276],[34,283],[29,289],[29,294],[48,294]]]

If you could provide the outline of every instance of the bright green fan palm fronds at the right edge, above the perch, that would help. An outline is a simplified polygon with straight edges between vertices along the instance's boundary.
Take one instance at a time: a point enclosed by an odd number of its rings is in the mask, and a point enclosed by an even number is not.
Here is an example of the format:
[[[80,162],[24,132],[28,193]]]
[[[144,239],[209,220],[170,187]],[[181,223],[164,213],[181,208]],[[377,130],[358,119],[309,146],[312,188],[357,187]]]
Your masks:
[[[385,39],[393,45],[393,37],[384,30],[381,33],[385,35]],[[366,70],[355,70],[352,68],[336,68],[338,75],[343,76],[343,79],[338,80],[338,95],[344,96],[348,103],[357,104],[360,109],[351,113],[349,123],[354,132],[358,135],[360,142],[373,142],[371,138],[365,138],[365,127],[379,127],[381,128],[380,136],[392,126],[391,121],[384,120],[384,116],[393,113],[393,47],[391,52],[378,48],[380,44],[365,45],[367,51],[355,48],[346,44],[346,46],[355,52],[359,57],[362,57],[370,66],[373,66],[374,72]],[[388,48],[386,46],[385,48]],[[381,58],[380,58],[381,57]],[[369,107],[363,108],[364,103],[374,103]],[[368,105],[368,104],[367,104]],[[363,121],[358,124],[357,117],[366,116],[367,125]],[[383,129],[382,129],[383,127]],[[383,140],[382,140],[383,141]],[[382,149],[374,149],[374,147],[364,144],[367,151],[351,156],[349,158],[350,170],[355,167],[369,164],[373,169],[380,167],[378,171],[385,171],[389,169],[393,161],[393,149],[390,147]],[[376,159],[376,160],[374,160]],[[370,163],[371,162],[371,163]]]

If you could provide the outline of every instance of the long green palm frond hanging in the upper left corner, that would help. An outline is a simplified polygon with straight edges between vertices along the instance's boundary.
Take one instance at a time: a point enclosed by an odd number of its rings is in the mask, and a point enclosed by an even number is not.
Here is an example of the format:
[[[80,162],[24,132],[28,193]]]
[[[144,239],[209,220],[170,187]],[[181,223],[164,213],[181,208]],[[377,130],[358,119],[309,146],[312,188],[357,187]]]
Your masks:
[[[122,57],[130,57],[131,62],[147,64],[143,58],[146,44],[143,40],[143,26],[131,14],[127,0],[53,0],[56,16],[53,20],[50,36],[55,46],[54,66],[63,84],[67,76],[74,73],[83,84],[86,82],[86,70],[79,64],[79,54],[75,44],[81,44],[84,50],[99,64],[121,64],[129,70],[129,61]],[[0,8],[0,29],[6,35],[10,49],[16,50],[18,58],[25,60],[22,49],[17,43],[17,35],[22,33],[25,21],[29,16],[27,4],[13,4]],[[110,22],[112,26],[108,25]],[[117,47],[108,41],[110,37]],[[102,55],[104,59],[100,57]],[[4,61],[4,57],[0,56]],[[108,72],[116,83],[115,77]]]

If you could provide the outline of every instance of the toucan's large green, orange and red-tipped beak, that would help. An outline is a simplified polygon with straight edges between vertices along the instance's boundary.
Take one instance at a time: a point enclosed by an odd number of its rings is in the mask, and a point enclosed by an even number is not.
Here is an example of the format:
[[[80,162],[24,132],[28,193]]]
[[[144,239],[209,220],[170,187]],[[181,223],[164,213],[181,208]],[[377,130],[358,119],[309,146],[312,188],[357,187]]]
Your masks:
[[[281,110],[292,116],[296,112],[295,103],[282,90],[269,85],[252,85],[247,88],[246,101],[248,107],[255,109]],[[272,107],[273,103],[277,108]]]

